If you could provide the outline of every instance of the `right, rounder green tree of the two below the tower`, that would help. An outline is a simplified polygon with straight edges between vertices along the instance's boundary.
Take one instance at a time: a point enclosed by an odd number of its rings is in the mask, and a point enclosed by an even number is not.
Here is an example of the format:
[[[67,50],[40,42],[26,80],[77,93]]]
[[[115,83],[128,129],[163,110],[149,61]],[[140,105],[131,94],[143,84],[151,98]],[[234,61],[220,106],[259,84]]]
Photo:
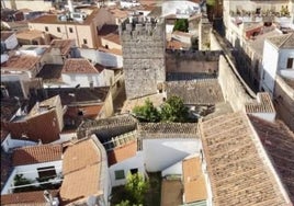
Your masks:
[[[189,118],[189,110],[179,96],[169,98],[161,106],[161,121],[183,123]]]

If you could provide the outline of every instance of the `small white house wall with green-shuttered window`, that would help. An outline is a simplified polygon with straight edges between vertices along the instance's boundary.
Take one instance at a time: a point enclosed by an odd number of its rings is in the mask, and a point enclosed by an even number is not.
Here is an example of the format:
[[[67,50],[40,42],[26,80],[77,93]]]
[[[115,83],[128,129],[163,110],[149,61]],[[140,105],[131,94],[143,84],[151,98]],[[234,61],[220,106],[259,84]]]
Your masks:
[[[118,186],[118,185],[124,185],[126,183],[126,179],[115,180],[114,171],[117,171],[117,170],[124,170],[125,178],[127,176],[131,169],[138,169],[139,173],[145,174],[143,157],[144,157],[143,152],[137,151],[135,157],[111,165],[109,168],[109,172],[111,176],[111,185]]]

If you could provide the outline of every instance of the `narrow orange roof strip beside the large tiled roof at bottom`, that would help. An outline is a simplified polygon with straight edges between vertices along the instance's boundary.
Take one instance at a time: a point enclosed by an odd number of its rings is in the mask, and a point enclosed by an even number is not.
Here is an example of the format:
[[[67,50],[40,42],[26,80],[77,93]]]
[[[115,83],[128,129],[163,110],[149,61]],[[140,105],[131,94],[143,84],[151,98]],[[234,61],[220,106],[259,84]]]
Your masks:
[[[184,159],[182,167],[185,203],[205,201],[207,194],[200,157]]]

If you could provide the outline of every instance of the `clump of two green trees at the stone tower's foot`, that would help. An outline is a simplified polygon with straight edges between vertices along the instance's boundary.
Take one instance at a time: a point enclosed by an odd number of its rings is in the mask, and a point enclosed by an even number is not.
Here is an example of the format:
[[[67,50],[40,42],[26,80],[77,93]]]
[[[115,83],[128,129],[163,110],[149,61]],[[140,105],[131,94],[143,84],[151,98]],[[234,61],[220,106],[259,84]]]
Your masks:
[[[133,114],[138,121],[146,123],[190,122],[189,108],[179,96],[170,96],[159,108],[155,107],[152,102],[147,99],[144,105],[134,107]]]

